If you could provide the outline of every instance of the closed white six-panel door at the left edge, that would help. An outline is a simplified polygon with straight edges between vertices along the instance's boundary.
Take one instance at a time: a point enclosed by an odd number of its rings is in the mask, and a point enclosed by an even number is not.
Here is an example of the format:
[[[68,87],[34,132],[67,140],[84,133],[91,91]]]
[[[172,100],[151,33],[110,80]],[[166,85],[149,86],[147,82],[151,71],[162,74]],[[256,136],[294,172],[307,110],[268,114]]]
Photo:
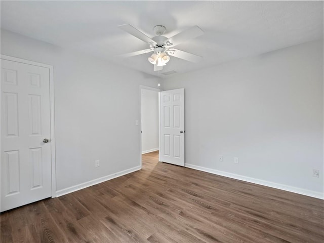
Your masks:
[[[1,212],[52,196],[49,75],[1,60]]]

